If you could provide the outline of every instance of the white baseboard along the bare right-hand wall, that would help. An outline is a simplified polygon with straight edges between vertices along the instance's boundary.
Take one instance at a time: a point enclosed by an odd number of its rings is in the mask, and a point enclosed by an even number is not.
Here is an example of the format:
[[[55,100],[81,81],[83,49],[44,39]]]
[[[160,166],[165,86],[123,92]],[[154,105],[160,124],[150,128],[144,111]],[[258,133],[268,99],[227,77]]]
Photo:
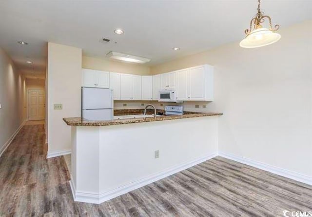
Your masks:
[[[285,170],[285,169],[275,167],[275,166],[272,166],[269,164],[265,164],[265,163],[262,163],[259,161],[255,161],[255,160],[248,159],[245,157],[236,156],[236,155],[230,154],[230,153],[218,152],[218,155],[221,157],[228,158],[230,160],[237,161],[237,162],[242,163],[242,164],[246,164],[246,165],[258,168],[260,170],[268,171],[268,172],[271,172],[273,174],[281,175],[281,176],[284,176],[286,178],[290,178],[290,179],[293,179],[293,180],[296,180],[299,182],[303,182],[303,183],[308,184],[308,185],[312,185],[312,177],[308,176],[308,175],[299,174],[299,173],[292,172],[289,170]]]

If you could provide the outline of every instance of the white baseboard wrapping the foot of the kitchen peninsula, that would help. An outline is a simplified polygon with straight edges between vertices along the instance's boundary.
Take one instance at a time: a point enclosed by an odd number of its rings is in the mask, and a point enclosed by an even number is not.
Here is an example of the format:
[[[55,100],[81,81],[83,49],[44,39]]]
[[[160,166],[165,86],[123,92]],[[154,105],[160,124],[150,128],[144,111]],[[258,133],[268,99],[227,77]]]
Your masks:
[[[202,163],[206,160],[214,158],[215,156],[217,156],[216,152],[211,153],[209,155],[199,157],[195,160],[184,163],[182,165],[178,165],[178,166],[168,168],[165,171],[161,171],[161,172],[158,172],[155,174],[151,174],[151,175],[146,176],[144,178],[141,178],[137,181],[134,181],[134,182],[128,183],[126,185],[120,186],[120,187],[113,189],[111,191],[108,191],[108,192],[103,192],[101,194],[96,194],[96,193],[92,193],[92,192],[78,192],[75,189],[74,184],[72,183],[73,179],[71,179],[70,185],[71,185],[71,189],[72,189],[72,194],[73,194],[75,201],[100,204],[102,202],[110,200],[110,199],[117,197],[119,195],[126,194],[128,192],[131,192],[133,190],[141,188],[145,185],[148,185],[152,182],[158,181],[159,179],[165,178],[169,175],[176,174],[182,170],[186,170],[186,169],[193,167],[199,163]]]

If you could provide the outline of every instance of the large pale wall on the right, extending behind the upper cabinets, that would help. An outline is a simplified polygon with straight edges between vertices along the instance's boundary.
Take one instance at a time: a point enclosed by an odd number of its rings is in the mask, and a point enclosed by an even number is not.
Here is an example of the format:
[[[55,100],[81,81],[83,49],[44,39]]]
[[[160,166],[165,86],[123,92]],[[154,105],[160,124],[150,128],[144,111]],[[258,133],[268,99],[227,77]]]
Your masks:
[[[229,43],[151,73],[214,65],[215,101],[200,110],[224,113],[219,152],[312,176],[311,31],[312,21],[282,26],[278,43],[254,49]]]

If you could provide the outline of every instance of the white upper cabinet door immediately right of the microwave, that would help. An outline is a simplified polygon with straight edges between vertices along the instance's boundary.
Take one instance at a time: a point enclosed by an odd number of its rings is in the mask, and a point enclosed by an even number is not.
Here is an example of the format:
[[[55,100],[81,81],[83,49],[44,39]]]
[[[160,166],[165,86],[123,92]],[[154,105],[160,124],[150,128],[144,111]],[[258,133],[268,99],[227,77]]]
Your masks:
[[[176,72],[176,98],[177,100],[188,100],[190,98],[188,69]]]

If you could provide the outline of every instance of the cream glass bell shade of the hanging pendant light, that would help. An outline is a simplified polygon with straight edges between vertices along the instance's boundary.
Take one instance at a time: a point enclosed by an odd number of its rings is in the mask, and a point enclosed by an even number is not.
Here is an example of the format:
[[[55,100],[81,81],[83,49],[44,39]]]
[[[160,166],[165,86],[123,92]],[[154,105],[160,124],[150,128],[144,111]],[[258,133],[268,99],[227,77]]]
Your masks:
[[[281,35],[267,28],[254,29],[243,39],[239,46],[244,48],[262,47],[280,40]]]

